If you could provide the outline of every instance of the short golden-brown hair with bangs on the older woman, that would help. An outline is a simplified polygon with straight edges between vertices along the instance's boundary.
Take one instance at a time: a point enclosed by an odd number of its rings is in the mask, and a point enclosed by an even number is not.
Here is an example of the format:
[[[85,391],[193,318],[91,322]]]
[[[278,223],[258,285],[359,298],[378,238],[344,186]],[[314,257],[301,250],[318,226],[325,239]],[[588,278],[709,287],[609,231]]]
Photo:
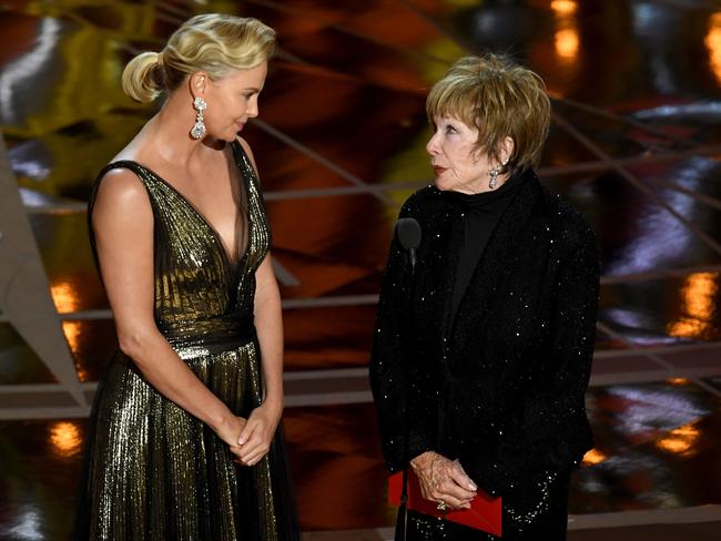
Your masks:
[[[477,147],[498,156],[509,136],[514,152],[505,171],[538,165],[550,124],[550,100],[544,80],[506,57],[486,54],[458,60],[426,100],[428,121],[454,116],[478,129]]]

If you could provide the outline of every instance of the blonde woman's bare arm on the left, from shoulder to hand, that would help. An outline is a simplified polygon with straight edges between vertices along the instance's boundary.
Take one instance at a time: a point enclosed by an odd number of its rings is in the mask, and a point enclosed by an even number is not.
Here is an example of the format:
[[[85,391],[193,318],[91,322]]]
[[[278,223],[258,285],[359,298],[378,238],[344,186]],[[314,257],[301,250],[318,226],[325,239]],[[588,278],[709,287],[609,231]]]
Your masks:
[[[134,173],[113,170],[103,178],[92,213],[101,275],[121,350],[162,395],[233,445],[243,428],[197,379],[159,331],[153,317],[153,213]]]

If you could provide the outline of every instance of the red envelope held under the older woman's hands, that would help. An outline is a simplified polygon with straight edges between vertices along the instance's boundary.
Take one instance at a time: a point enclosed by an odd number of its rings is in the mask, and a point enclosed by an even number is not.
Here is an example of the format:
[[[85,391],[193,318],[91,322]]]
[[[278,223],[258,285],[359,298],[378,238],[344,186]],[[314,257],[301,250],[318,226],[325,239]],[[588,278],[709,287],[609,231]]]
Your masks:
[[[400,504],[400,494],[403,492],[403,471],[394,473],[388,479],[388,502],[394,506]],[[483,490],[478,490],[478,496],[470,502],[470,509],[460,511],[439,511],[436,503],[424,500],[420,496],[420,484],[413,470],[408,471],[408,509],[424,514],[431,514],[451,522],[457,522],[476,530],[483,530],[494,535],[501,537],[500,517],[501,502],[500,498],[492,498]]]

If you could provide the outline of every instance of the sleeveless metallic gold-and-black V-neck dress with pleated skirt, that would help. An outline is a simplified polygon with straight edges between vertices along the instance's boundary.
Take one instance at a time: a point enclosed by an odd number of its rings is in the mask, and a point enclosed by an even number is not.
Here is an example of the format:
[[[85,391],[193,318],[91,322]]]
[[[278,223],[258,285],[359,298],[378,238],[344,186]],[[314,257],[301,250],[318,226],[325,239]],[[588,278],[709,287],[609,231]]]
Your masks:
[[[244,197],[247,242],[234,266],[211,224],[171,184],[129,161],[154,218],[158,328],[233,414],[262,402],[261,353],[253,324],[255,270],[270,246],[265,205],[240,143],[233,159]],[[90,227],[91,244],[95,242]],[[240,466],[207,426],[148,384],[116,351],[90,419],[72,539],[299,540],[281,429],[271,451]]]

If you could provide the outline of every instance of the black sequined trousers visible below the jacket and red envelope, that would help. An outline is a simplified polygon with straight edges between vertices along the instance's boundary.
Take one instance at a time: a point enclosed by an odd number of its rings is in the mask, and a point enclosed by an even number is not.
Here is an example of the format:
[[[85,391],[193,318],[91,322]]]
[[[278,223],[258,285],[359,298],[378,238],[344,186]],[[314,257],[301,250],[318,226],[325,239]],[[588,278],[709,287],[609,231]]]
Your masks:
[[[557,476],[539,490],[538,482],[526,487],[528,493],[539,494],[530,503],[522,496],[504,499],[502,538],[481,532],[428,514],[408,511],[407,541],[563,541],[568,527],[568,487],[570,473]],[[536,498],[531,498],[536,499]],[[542,501],[541,501],[542,499]],[[522,501],[522,504],[520,503]],[[521,509],[522,508],[522,509]]]

